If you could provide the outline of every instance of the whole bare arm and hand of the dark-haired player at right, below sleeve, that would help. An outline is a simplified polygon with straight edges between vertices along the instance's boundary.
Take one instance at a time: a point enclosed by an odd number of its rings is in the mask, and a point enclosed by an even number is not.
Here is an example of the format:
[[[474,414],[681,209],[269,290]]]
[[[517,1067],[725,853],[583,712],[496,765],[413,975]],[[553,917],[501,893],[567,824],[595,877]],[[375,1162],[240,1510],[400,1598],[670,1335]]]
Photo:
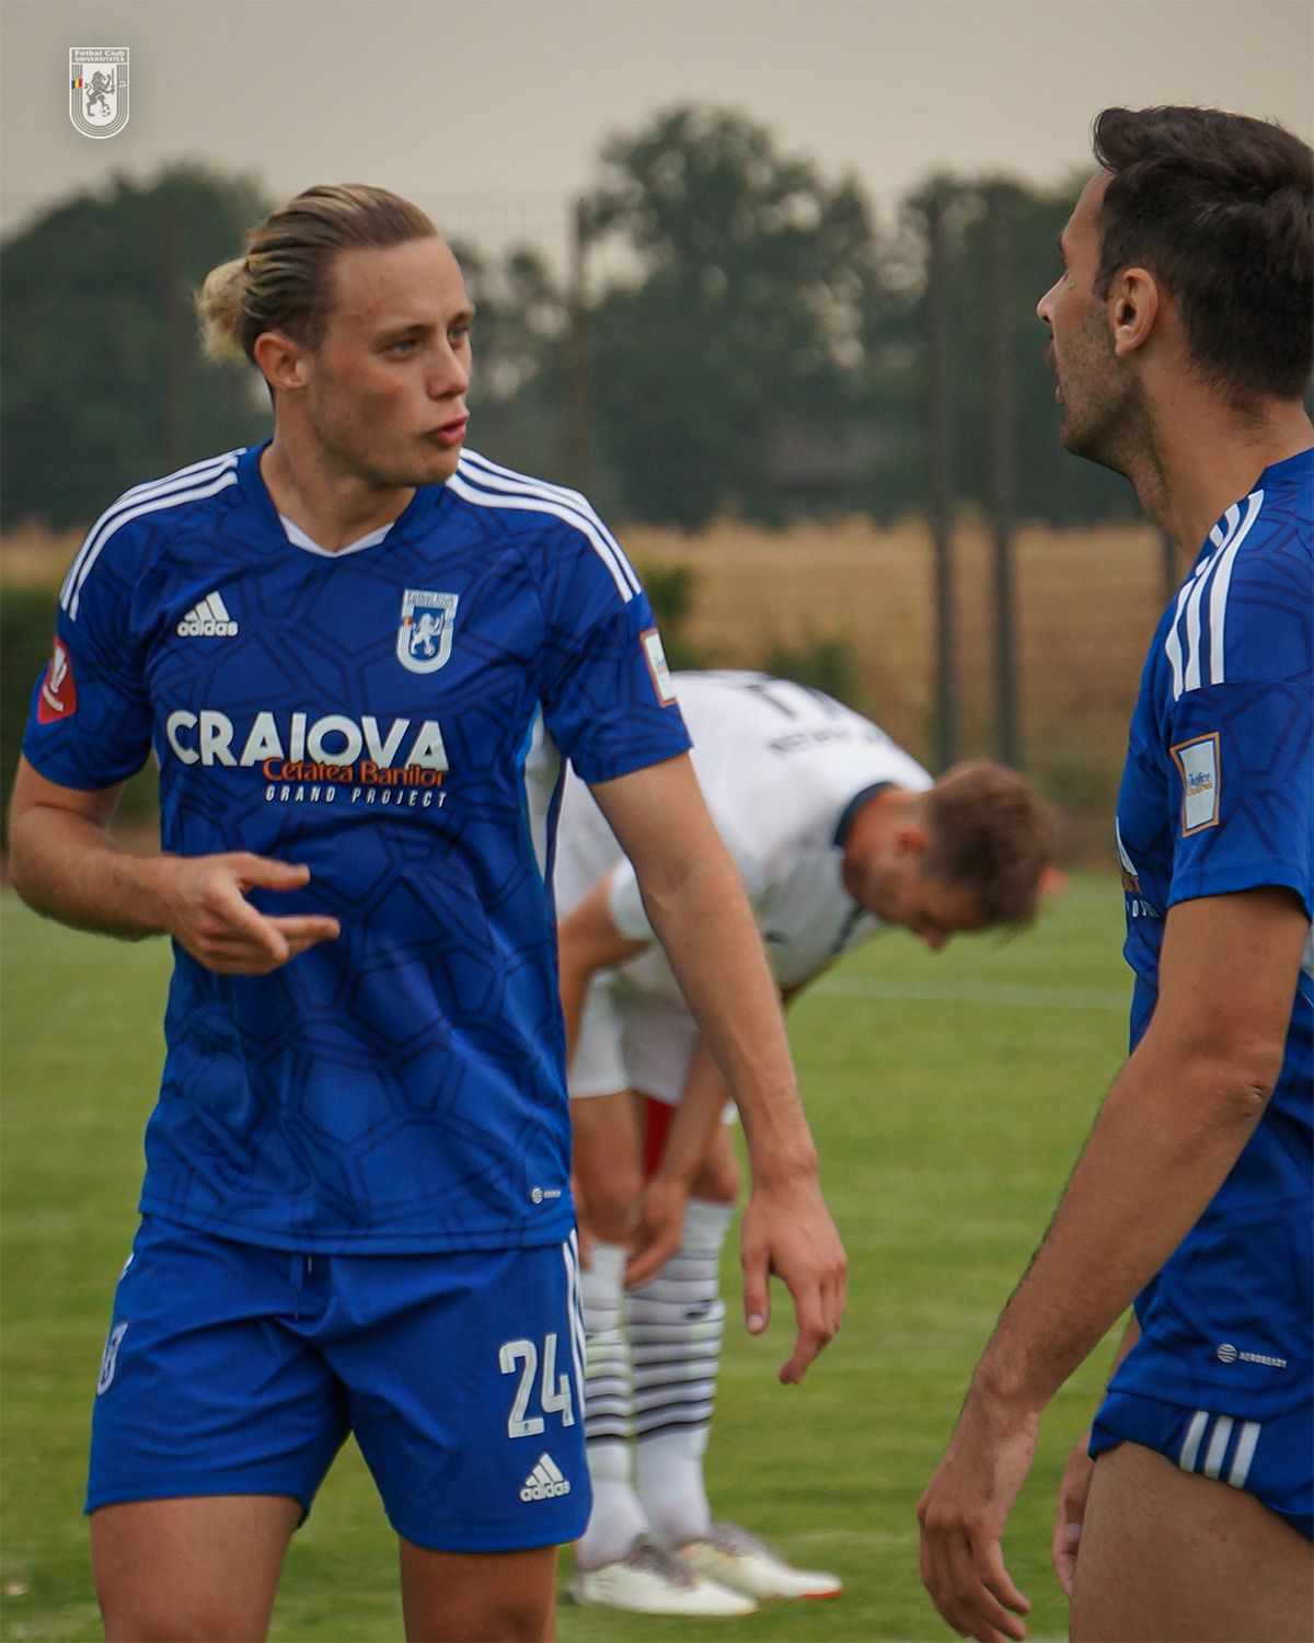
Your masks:
[[[961,1631],[1023,1636],[1000,1538],[1040,1411],[1181,1244],[1263,1116],[1309,920],[1283,889],[1173,907],[1160,996],[918,1505],[921,1576]]]

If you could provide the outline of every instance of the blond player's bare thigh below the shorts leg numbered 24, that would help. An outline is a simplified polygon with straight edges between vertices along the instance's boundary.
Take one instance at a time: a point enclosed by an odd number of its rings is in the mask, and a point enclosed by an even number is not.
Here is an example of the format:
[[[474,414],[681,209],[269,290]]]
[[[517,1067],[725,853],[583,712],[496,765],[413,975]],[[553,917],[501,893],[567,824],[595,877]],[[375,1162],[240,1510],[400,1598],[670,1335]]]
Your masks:
[[[550,1643],[557,1548],[429,1551],[401,1541],[407,1643]]]

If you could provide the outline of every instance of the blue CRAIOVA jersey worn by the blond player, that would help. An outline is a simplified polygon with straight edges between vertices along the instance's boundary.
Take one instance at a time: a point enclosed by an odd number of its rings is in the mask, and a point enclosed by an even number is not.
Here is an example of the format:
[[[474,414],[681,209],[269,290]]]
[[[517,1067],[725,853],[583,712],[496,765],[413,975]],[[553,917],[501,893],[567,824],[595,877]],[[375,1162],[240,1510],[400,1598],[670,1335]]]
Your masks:
[[[176,945],[141,1209],[276,1249],[558,1244],[552,846],[524,762],[539,715],[590,782],[688,748],[650,606],[577,491],[466,452],[330,554],[284,527],[261,450],[97,521],[23,744],[76,789],[154,752],[166,851],[304,863],[304,891],[253,904],[342,922],[261,978]]]

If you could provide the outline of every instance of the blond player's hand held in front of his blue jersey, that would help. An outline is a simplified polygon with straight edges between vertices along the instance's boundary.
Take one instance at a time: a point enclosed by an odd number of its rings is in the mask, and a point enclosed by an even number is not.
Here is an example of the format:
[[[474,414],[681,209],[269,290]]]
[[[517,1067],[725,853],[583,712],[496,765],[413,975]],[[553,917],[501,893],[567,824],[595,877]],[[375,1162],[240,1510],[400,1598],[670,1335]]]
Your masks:
[[[319,941],[342,935],[324,914],[261,914],[246,891],[299,891],[310,869],[248,851],[169,856],[164,904],[169,935],[220,976],[268,976]]]

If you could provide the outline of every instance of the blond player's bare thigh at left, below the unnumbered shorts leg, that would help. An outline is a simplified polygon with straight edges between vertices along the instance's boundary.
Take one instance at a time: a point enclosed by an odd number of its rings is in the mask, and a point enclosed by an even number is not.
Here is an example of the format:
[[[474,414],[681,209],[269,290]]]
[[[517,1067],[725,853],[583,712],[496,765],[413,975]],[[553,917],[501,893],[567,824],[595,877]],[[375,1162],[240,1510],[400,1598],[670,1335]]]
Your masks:
[[[133,1500],[90,1516],[110,1643],[264,1636],[301,1503],[289,1495]]]

